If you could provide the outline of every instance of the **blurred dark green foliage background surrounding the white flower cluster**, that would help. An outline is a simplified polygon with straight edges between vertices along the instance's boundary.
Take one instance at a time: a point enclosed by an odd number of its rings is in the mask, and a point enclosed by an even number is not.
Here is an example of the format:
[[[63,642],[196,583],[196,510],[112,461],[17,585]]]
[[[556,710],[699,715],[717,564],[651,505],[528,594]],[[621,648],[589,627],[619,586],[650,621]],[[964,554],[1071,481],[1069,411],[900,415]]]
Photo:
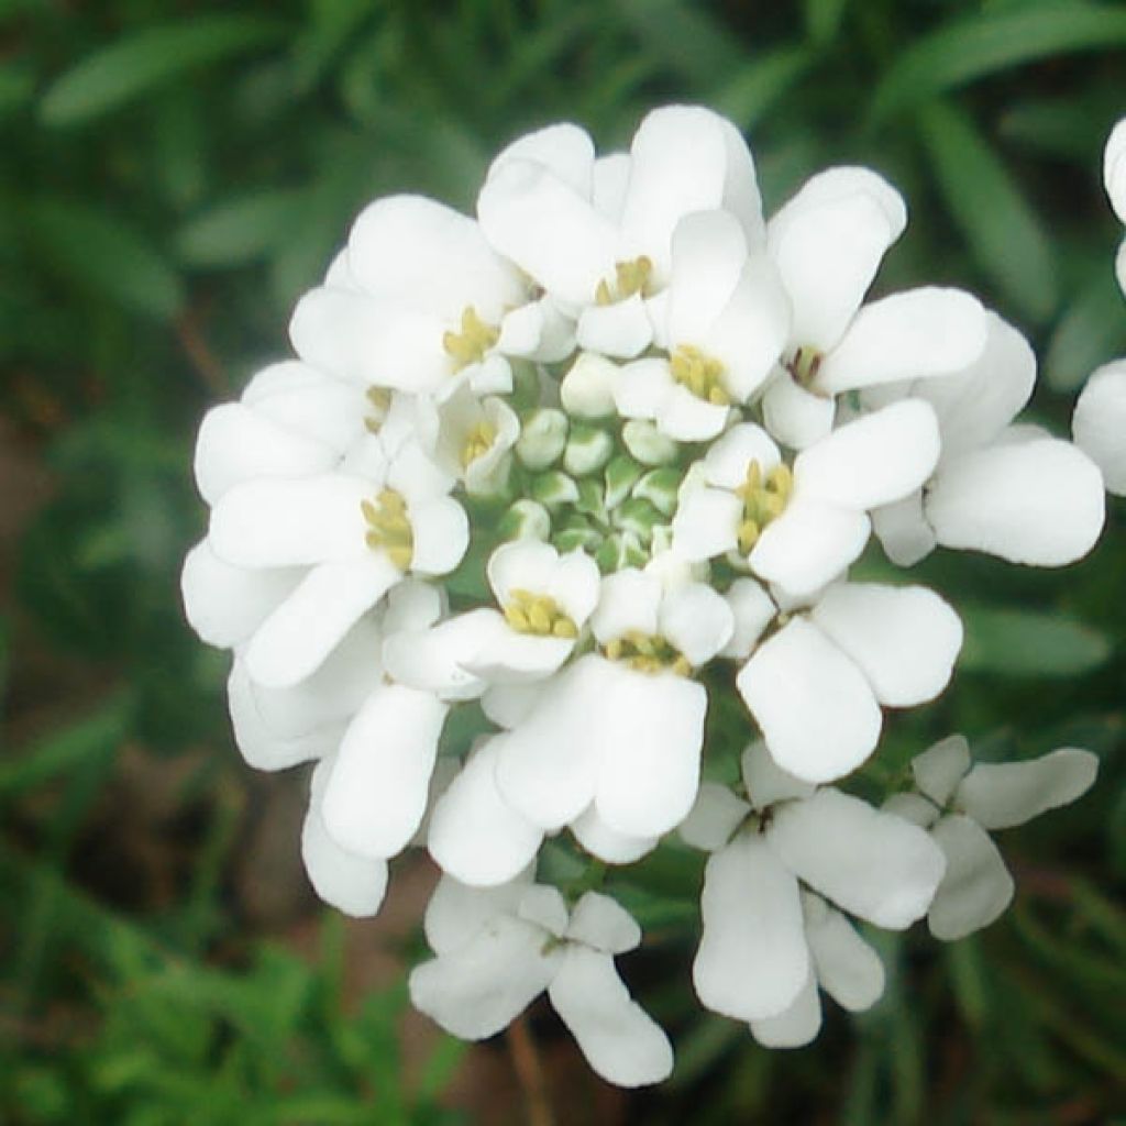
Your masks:
[[[0,506],[14,560],[0,575],[0,1119],[472,1120],[439,1109],[450,1042],[403,1079],[402,989],[342,995],[339,922],[306,956],[277,922],[248,924],[232,873],[257,784],[227,733],[224,661],[189,635],[177,593],[202,530],[199,414],[285,351],[288,307],[366,200],[410,190],[472,208],[489,154],[525,128],[570,118],[620,145],[647,107],[692,100],[748,131],[771,207],[829,163],[887,175],[912,222],[881,287],[967,285],[1022,324],[1044,358],[1035,413],[1060,430],[1085,375],[1126,352],[1099,178],[1126,111],[1126,5],[5,0],[0,28],[15,466]],[[38,474],[44,495],[25,506]],[[948,949],[885,941],[874,1011],[769,1054],[690,1004],[699,866],[659,851],[611,886],[653,929],[633,973],[679,1062],[622,1120],[1123,1111],[1123,517],[1112,507],[1105,543],[1063,574],[949,555],[920,572],[964,611],[965,661],[942,700],[890,723],[869,781],[951,730],[985,756],[1071,742],[1102,757],[1078,807],[1007,834],[1011,915]],[[713,723],[742,738],[736,713]],[[137,815],[145,789],[122,797],[137,756],[175,781],[159,823]],[[123,864],[126,830],[155,875]],[[572,859],[551,863],[565,875]],[[313,909],[298,895],[295,910]]]

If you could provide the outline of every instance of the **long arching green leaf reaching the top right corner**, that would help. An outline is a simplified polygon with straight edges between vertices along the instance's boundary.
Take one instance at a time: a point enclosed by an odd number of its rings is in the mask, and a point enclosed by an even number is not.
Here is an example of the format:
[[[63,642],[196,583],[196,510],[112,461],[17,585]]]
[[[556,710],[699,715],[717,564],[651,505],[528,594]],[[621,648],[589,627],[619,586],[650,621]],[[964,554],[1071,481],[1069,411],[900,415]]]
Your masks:
[[[1083,2],[1013,5],[915,39],[876,87],[879,122],[919,102],[1037,59],[1126,44],[1126,10]]]

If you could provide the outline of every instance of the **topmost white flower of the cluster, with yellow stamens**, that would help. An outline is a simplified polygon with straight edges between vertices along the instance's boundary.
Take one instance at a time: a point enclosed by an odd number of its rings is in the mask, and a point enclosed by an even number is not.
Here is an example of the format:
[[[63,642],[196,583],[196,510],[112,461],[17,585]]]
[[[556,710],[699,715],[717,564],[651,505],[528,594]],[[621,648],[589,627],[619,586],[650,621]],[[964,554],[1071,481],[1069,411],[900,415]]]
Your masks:
[[[715,208],[761,243],[745,142],[730,122],[691,106],[651,113],[627,159],[596,162],[575,126],[521,137],[493,162],[477,199],[492,245],[574,311],[579,346],[619,357],[653,338],[646,304],[668,284],[677,224]]]

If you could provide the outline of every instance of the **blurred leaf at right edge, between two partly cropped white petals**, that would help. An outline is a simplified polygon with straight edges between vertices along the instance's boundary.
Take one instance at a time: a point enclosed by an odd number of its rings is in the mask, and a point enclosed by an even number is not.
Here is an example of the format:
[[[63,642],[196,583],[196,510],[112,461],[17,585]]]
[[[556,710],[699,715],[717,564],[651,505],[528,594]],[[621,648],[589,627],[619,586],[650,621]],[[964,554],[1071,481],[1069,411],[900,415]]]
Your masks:
[[[1126,305],[1114,270],[1114,248],[1064,310],[1044,359],[1053,391],[1072,392],[1100,365],[1126,351]]]

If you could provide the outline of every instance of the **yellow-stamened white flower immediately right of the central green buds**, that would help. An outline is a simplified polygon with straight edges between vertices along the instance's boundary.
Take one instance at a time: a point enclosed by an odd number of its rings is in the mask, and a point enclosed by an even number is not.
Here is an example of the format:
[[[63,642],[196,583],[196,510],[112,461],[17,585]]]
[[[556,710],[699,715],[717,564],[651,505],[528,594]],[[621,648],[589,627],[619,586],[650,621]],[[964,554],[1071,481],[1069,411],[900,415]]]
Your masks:
[[[811,595],[859,557],[867,510],[918,489],[938,454],[935,414],[919,402],[840,427],[798,454],[793,472],[766,431],[736,426],[683,489],[673,543],[688,558],[738,552],[759,578]]]

